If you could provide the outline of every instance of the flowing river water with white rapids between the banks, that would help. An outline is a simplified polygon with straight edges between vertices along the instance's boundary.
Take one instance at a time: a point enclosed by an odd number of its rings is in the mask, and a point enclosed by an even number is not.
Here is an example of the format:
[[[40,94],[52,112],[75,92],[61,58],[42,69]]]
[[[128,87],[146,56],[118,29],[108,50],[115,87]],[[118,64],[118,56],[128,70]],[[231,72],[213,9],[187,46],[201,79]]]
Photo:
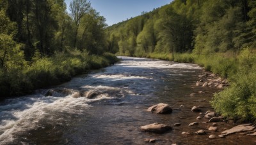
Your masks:
[[[211,124],[202,120],[188,127],[198,116],[191,107],[211,110],[209,100],[218,91],[204,88],[205,93],[196,93],[202,89],[195,87],[199,74],[202,69],[194,64],[122,57],[115,66],[0,102],[0,144],[146,144],[145,138],[157,139],[156,144],[251,144],[246,136],[212,140],[208,136],[220,132],[193,135]],[[79,97],[90,91],[96,92],[93,99]],[[169,104],[173,113],[146,111],[159,102]],[[161,135],[140,131],[140,126],[155,122],[182,125]],[[220,130],[229,126],[219,123]]]

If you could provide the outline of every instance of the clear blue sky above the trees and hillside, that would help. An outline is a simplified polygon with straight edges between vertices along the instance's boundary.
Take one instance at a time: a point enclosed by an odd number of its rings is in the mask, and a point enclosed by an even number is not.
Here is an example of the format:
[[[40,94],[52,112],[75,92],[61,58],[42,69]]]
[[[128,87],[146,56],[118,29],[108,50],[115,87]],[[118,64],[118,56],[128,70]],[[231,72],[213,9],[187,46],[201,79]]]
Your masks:
[[[70,1],[65,0],[67,8]],[[88,0],[87,0],[88,1]],[[127,18],[141,15],[142,11],[152,11],[172,0],[90,0],[92,7],[106,18],[108,25],[113,25]]]

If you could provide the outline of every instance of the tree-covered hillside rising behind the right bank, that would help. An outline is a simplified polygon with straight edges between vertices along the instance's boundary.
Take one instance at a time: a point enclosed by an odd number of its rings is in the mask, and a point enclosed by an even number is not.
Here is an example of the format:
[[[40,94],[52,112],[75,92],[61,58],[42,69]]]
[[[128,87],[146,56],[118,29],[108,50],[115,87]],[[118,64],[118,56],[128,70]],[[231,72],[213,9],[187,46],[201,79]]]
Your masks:
[[[175,0],[108,27],[111,49],[120,55],[146,56],[255,47],[255,5],[250,0]]]

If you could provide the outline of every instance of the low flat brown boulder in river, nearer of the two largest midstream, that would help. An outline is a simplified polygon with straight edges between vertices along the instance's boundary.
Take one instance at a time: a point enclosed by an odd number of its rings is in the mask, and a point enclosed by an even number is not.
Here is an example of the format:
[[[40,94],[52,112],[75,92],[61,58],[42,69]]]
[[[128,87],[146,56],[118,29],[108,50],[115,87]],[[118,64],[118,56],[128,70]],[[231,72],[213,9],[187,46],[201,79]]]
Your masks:
[[[163,134],[168,130],[172,130],[172,127],[170,127],[169,125],[164,125],[160,123],[153,123],[153,124],[142,126],[140,127],[140,129],[145,132],[154,132],[156,134]]]

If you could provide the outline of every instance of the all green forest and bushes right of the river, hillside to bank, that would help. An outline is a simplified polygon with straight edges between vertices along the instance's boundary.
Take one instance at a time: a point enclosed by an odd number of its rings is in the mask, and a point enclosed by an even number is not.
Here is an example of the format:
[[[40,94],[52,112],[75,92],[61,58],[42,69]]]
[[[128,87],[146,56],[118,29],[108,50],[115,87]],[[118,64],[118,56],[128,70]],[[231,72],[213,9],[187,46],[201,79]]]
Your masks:
[[[228,78],[212,106],[223,116],[255,121],[255,0],[175,0],[107,33],[109,52],[193,62]]]

